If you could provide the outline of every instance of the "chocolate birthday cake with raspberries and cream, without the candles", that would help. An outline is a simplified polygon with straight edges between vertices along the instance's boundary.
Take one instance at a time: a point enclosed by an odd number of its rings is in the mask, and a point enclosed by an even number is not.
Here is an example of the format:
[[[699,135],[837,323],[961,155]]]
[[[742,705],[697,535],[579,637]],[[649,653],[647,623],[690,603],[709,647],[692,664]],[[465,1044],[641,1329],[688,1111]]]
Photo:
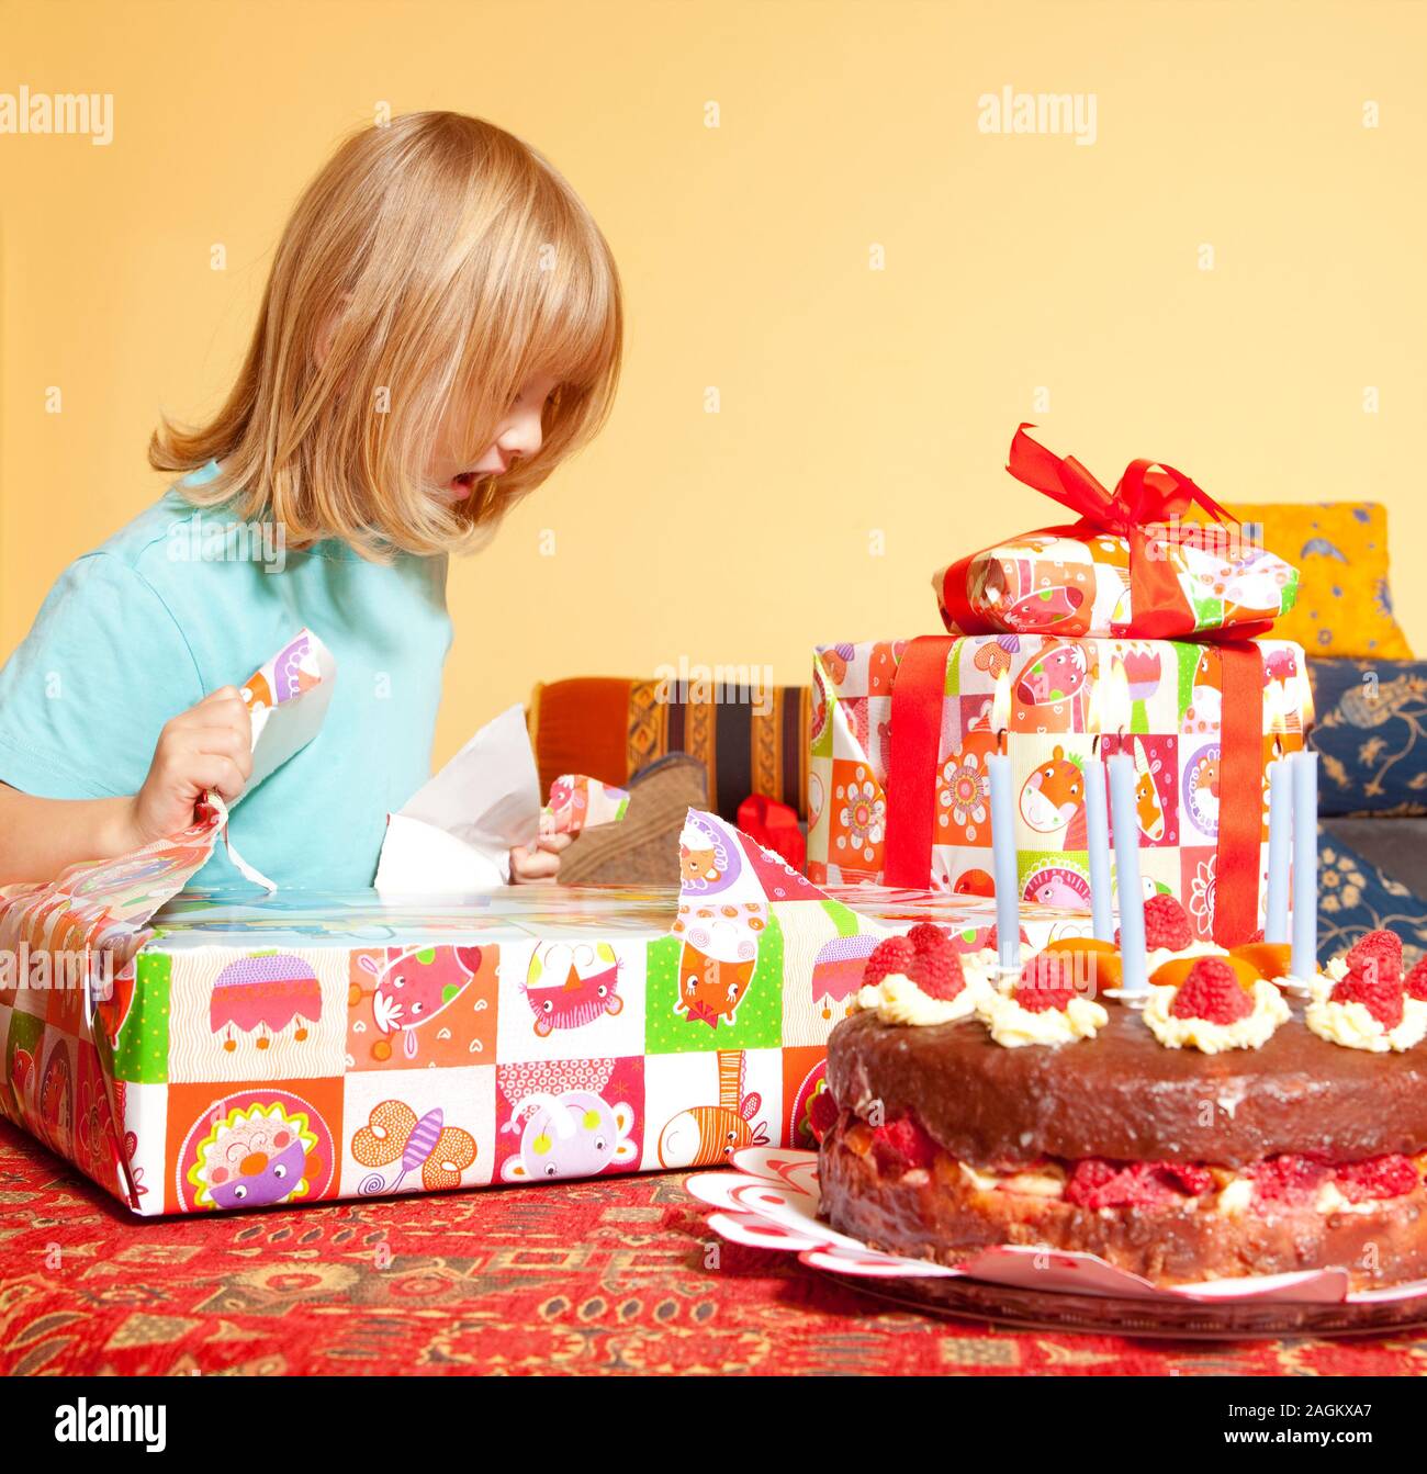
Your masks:
[[[923,924],[879,945],[828,1044],[823,1213],[955,1265],[1001,1244],[1156,1284],[1340,1266],[1427,1278],[1427,961],[1375,932],[1291,982],[1285,946],[1147,908],[1148,988],[1063,942],[998,979]]]

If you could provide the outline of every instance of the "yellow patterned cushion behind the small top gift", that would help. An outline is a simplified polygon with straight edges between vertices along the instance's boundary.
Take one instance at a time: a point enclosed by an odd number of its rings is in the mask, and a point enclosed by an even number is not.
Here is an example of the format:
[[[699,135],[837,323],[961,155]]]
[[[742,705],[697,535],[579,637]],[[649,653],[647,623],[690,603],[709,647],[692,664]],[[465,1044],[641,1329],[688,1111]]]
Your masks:
[[[1311,656],[1411,660],[1387,591],[1387,509],[1374,501],[1235,503],[1263,544],[1299,570],[1299,597],[1274,634]]]

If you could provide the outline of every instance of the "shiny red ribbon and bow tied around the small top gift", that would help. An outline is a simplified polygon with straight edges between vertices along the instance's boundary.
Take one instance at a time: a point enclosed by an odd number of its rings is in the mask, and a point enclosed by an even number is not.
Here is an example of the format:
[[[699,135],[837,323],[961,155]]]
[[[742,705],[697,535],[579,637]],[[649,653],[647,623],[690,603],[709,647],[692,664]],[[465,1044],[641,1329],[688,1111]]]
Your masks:
[[[1165,556],[1165,544],[1151,547],[1150,528],[1163,526],[1182,517],[1190,507],[1201,507],[1215,522],[1238,519],[1219,506],[1207,491],[1196,486],[1188,476],[1163,461],[1137,460],[1125,467],[1113,492],[1073,457],[1056,455],[1030,439],[1022,425],[1011,441],[1005,469],[1027,486],[1078,513],[1079,522],[1069,526],[1045,528],[1060,537],[1085,541],[1097,532],[1123,537],[1129,545],[1128,624],[1112,625],[1116,637],[1135,635],[1142,640],[1178,640],[1194,634],[1194,610],[1179,587],[1173,565]],[[942,578],[942,621],[948,629],[963,634],[999,634],[1001,626],[971,607],[967,595],[967,575],[971,565],[989,553],[982,548],[970,557],[958,559]],[[1219,638],[1243,640],[1269,629],[1269,621],[1241,624]],[[1213,632],[1206,632],[1213,637]]]

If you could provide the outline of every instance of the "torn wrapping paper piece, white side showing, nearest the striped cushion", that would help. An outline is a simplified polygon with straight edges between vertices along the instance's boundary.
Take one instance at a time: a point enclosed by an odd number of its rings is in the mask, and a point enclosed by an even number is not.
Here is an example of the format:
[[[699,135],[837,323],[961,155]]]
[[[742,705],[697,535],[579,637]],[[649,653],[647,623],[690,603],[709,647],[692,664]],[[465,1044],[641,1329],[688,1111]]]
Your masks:
[[[492,890],[510,880],[516,845],[612,824],[628,802],[624,789],[566,774],[541,808],[525,713],[510,706],[388,817],[376,889],[394,896]]]

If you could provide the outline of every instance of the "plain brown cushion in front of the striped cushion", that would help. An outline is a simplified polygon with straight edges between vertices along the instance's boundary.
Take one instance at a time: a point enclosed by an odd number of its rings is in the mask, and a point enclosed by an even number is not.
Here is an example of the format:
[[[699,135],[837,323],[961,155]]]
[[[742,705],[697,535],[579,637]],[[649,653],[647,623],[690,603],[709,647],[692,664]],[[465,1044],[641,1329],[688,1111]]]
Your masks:
[[[703,764],[672,753],[629,781],[629,808],[618,824],[585,830],[560,859],[569,886],[672,886],[678,836],[690,808],[708,805]]]

